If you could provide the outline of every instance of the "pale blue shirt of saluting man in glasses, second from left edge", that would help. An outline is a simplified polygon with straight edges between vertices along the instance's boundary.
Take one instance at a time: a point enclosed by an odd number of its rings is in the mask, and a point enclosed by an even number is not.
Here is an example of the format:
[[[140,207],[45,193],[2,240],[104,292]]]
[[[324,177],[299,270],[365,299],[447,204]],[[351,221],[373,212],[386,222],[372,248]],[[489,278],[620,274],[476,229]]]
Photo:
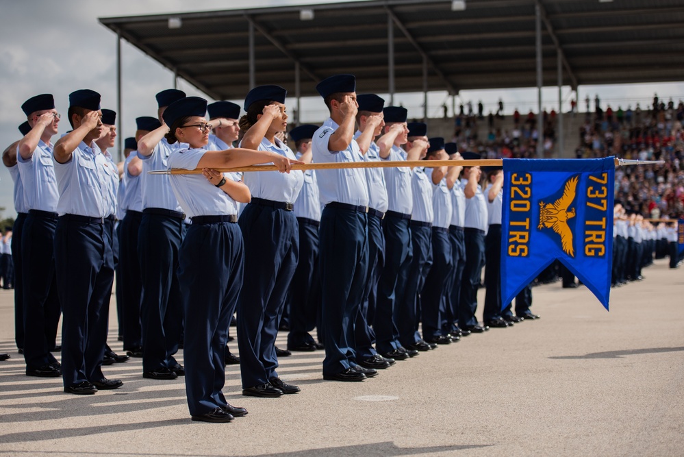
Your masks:
[[[17,146],[16,162],[24,187],[25,209],[56,212],[60,191],[55,177],[53,146],[40,140],[33,155],[27,160],[21,157]]]

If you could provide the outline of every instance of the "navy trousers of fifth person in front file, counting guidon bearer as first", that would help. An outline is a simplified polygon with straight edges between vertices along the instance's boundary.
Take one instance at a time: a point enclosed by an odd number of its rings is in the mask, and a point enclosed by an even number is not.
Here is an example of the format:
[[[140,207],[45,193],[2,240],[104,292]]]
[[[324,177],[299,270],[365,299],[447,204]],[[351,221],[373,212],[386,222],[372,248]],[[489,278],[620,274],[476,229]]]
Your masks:
[[[401,269],[407,269],[411,260],[411,229],[409,219],[386,214],[382,223],[385,239],[385,265],[380,274],[372,321],[375,331],[375,349],[385,354],[401,347],[399,331],[394,325],[394,309],[398,309],[405,284],[398,282]]]

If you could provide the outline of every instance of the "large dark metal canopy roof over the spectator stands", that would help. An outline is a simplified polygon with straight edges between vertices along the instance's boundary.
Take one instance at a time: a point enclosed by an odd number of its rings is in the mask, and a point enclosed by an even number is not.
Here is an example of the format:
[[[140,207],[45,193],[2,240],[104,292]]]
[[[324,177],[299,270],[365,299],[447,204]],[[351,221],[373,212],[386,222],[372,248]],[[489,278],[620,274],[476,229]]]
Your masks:
[[[684,0],[467,0],[464,11],[451,0],[372,0],[99,21],[214,99],[242,99],[256,84],[317,95],[335,73],[356,75],[359,92],[455,94],[537,86],[537,5],[544,86],[557,86],[558,59],[572,88],[682,79]]]

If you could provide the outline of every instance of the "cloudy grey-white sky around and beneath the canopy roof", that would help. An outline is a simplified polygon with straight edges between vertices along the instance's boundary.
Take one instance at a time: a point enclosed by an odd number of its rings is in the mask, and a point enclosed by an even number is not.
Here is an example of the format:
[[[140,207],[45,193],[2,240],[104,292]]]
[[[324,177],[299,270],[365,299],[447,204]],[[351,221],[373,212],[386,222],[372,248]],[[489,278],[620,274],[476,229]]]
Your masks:
[[[325,0],[0,0],[0,144],[1,149],[20,138],[18,125],[26,120],[21,104],[34,95],[51,93],[57,109],[64,114],[60,134],[70,127],[66,119],[68,94],[80,88],[91,88],[102,95],[102,107],[116,110],[116,36],[97,19],[108,16],[159,14],[229,8],[261,8],[281,5],[326,3]],[[330,2],[333,3],[333,2]],[[199,5],[199,8],[197,7]],[[123,132],[122,138],[135,133],[135,118],[155,116],[154,95],[173,87],[173,74],[147,58],[126,42],[123,55]],[[188,95],[200,95],[185,82],[179,88]],[[580,98],[596,93],[614,104],[642,99],[648,101],[658,92],[661,97],[684,98],[684,83],[643,84],[631,86],[581,86]],[[493,106],[499,97],[507,111],[516,106],[527,111],[536,106],[536,90],[490,90],[461,92],[464,100],[483,100]],[[570,90],[563,98],[570,100]],[[546,88],[544,106],[557,106],[557,88]],[[422,95],[396,95],[395,104],[409,108],[409,116],[422,116]],[[548,101],[548,102],[547,102]],[[304,100],[302,121],[320,122],[320,101]],[[429,96],[429,115],[441,116],[442,103],[451,106],[446,92]],[[582,106],[583,106],[583,102]],[[643,103],[642,103],[643,106]],[[412,111],[412,112],[411,112]],[[485,111],[487,111],[485,109]],[[53,138],[53,142],[57,137]],[[0,217],[14,217],[12,178],[0,166]]]

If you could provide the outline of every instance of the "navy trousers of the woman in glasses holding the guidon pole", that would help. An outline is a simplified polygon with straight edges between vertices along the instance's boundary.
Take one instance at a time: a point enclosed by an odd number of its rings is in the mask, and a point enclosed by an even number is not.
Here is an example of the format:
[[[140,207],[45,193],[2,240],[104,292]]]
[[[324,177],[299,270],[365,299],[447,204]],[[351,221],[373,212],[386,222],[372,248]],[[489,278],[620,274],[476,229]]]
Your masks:
[[[242,287],[244,250],[236,223],[193,223],[179,252],[185,317],[183,361],[190,415],[226,406],[224,356]]]

